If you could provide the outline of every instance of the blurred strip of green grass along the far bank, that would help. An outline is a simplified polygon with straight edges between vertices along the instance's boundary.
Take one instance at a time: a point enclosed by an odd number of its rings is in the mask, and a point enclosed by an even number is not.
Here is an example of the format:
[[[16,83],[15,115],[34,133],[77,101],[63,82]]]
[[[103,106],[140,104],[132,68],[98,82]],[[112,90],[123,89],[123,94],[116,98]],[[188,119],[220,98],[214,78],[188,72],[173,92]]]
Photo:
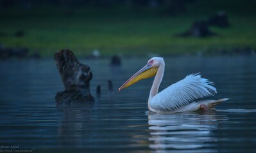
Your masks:
[[[256,20],[251,5],[246,5],[250,8],[245,12],[244,8],[235,11],[239,6],[236,3],[233,9],[226,9],[231,27],[211,27],[218,36],[203,39],[175,36],[189,29],[194,20],[206,19],[225,6],[221,4],[217,1],[214,8],[208,6],[208,9],[200,10],[206,5],[205,1],[200,1],[187,8],[187,13],[176,16],[166,15],[164,11],[125,9],[87,8],[76,10],[72,15],[68,10],[55,8],[1,10],[0,32],[8,36],[0,36],[0,43],[6,47],[28,47],[31,53],[38,52],[43,56],[52,56],[62,48],[69,48],[76,55],[89,55],[94,49],[102,55],[169,55],[221,48],[256,48]],[[13,36],[18,30],[24,31],[23,37]]]

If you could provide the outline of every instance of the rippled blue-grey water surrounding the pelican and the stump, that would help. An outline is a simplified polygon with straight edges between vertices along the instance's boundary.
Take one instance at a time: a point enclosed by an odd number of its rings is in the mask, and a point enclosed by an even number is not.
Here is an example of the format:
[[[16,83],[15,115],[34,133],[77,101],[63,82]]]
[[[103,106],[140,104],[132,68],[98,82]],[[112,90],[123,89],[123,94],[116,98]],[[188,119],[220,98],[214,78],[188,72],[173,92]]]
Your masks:
[[[214,99],[230,98],[213,112],[170,115],[146,112],[152,78],[117,92],[148,59],[123,59],[120,68],[80,60],[92,69],[92,94],[97,85],[102,93],[72,108],[55,105],[64,87],[53,60],[0,61],[1,152],[255,152],[255,57],[166,57],[160,91],[201,72],[218,89]]]

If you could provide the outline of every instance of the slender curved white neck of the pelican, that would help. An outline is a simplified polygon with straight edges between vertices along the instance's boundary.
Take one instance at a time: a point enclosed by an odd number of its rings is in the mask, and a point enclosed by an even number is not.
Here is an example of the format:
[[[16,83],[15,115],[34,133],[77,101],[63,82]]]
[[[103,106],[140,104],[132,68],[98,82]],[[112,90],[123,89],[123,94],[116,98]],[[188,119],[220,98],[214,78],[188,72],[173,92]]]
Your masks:
[[[153,98],[153,96],[155,96],[158,93],[158,89],[162,82],[163,77],[164,77],[164,61],[160,62],[158,66],[157,74],[155,75],[153,85],[149,92],[148,103],[149,101],[151,101],[151,98]]]

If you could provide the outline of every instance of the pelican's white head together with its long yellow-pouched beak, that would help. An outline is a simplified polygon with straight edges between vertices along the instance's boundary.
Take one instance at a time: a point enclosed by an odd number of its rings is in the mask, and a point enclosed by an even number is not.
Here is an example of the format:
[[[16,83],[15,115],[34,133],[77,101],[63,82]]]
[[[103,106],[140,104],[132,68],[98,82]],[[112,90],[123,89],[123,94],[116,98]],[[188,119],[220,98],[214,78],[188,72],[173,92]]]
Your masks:
[[[162,57],[153,57],[152,59],[149,59],[148,63],[141,68],[137,73],[135,73],[131,78],[129,78],[119,89],[118,91],[121,91],[122,89],[129,87],[132,84],[135,84],[139,80],[154,77],[157,73],[158,67],[160,64],[164,63],[164,59]]]

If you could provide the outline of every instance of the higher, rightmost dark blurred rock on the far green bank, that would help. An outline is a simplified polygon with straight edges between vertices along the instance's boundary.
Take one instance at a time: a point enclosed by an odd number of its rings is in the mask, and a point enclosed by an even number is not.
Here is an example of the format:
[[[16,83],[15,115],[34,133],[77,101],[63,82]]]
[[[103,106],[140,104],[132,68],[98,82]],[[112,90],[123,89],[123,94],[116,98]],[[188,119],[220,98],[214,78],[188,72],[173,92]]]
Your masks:
[[[225,11],[218,11],[209,18],[208,24],[216,27],[229,27],[228,17]]]

